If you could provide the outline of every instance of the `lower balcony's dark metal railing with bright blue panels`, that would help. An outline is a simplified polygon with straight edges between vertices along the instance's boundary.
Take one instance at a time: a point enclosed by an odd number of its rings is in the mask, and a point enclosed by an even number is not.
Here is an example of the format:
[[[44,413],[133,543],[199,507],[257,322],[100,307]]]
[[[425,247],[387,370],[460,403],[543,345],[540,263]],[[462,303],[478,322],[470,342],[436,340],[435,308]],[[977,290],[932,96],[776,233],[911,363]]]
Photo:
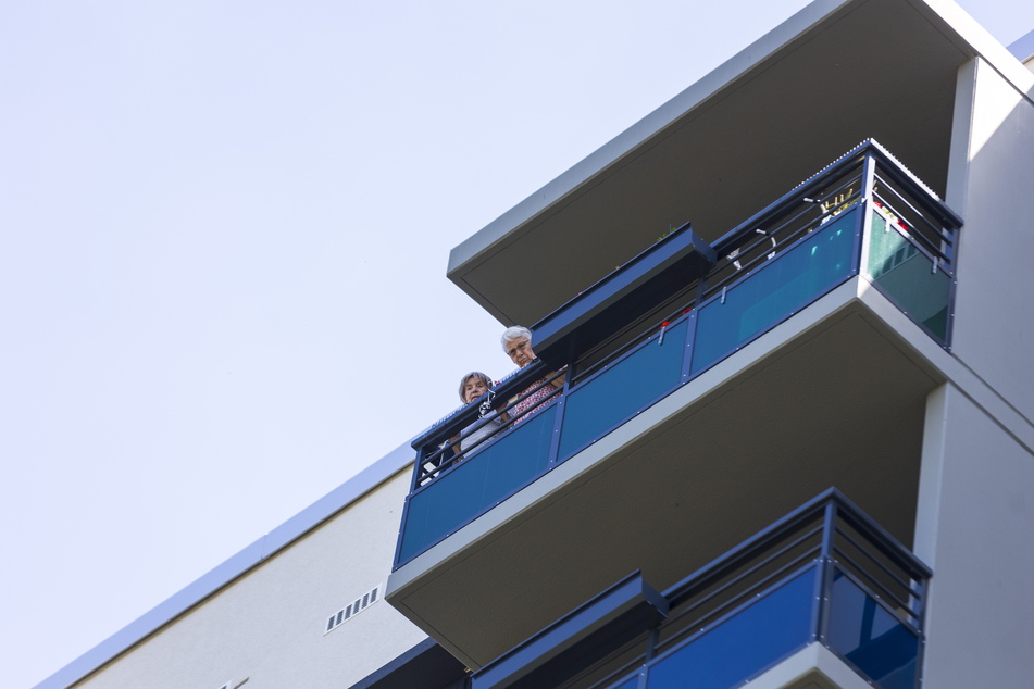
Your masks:
[[[874,686],[915,689],[930,576],[831,489],[667,591],[619,582],[475,673],[473,687],[727,689],[818,642]],[[647,594],[637,603],[630,588]]]

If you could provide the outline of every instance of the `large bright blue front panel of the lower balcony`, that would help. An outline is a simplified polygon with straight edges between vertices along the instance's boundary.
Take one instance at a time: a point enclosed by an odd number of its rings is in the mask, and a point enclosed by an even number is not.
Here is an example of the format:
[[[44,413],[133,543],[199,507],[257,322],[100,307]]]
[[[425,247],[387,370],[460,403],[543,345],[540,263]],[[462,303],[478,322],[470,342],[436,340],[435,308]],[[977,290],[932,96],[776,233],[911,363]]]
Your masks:
[[[815,568],[790,579],[649,668],[649,689],[728,689],[811,641]]]

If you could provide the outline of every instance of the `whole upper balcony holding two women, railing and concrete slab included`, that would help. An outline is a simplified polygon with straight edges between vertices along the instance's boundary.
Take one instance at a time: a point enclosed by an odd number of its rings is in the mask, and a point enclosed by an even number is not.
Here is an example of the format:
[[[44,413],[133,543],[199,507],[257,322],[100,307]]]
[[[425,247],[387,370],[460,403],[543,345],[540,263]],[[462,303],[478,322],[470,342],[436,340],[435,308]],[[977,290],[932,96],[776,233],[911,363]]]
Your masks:
[[[416,439],[387,598],[476,668],[829,487],[911,543],[960,226],[867,141],[712,245],[660,239],[533,327],[540,361],[494,400]],[[564,366],[537,406],[501,403]],[[457,453],[482,406],[508,421]]]

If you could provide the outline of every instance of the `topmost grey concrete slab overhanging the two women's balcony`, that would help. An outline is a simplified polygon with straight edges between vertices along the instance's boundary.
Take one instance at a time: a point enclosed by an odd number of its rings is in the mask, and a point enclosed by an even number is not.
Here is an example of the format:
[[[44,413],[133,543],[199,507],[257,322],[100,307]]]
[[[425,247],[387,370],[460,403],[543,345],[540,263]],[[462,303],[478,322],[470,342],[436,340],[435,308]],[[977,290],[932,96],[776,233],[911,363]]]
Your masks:
[[[449,277],[531,325],[668,228],[712,241],[870,137],[943,197],[973,54],[919,0],[817,2],[453,249]]]

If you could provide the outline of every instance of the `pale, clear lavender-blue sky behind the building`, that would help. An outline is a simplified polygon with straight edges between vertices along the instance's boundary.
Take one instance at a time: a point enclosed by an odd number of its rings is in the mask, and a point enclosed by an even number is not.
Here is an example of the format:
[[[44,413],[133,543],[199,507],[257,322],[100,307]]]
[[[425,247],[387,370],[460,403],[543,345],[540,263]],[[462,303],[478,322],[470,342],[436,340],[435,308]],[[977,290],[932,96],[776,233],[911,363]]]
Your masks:
[[[449,250],[805,4],[0,4],[0,685],[509,373]]]

